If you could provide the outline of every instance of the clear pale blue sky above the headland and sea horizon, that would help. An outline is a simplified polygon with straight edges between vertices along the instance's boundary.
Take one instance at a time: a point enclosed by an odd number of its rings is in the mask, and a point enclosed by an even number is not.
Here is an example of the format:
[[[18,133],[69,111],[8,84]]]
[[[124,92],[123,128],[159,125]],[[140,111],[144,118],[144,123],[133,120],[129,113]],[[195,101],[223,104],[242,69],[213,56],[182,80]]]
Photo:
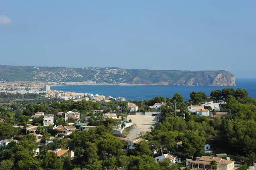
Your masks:
[[[0,0],[0,64],[256,78],[255,0]]]

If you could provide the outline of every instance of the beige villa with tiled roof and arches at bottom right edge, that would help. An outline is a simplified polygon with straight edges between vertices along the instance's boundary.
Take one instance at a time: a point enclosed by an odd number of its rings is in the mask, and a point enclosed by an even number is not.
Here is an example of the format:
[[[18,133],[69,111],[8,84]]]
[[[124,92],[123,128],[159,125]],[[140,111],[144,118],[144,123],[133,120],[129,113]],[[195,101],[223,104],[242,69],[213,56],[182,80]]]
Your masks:
[[[196,164],[198,168],[211,169],[211,161],[216,161],[218,164],[217,170],[233,170],[235,167],[235,161],[230,161],[219,157],[201,156],[195,159],[195,161],[186,159],[186,166],[192,168],[193,165]]]

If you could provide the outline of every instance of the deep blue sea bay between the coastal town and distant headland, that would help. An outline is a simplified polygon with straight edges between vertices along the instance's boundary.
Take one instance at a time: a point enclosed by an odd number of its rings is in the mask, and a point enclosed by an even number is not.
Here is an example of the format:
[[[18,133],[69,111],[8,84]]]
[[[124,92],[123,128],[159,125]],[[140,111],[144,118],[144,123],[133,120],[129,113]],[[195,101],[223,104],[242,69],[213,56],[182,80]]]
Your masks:
[[[155,86],[155,85],[69,85],[69,86],[51,86],[51,90],[62,90],[68,92],[92,93],[93,95],[105,95],[125,97],[126,100],[148,100],[156,96],[172,98],[178,92],[185,100],[189,100],[189,94],[193,91],[205,92],[209,95],[212,90],[223,88],[242,88],[246,89],[250,97],[256,97],[256,79],[236,79],[236,86]]]

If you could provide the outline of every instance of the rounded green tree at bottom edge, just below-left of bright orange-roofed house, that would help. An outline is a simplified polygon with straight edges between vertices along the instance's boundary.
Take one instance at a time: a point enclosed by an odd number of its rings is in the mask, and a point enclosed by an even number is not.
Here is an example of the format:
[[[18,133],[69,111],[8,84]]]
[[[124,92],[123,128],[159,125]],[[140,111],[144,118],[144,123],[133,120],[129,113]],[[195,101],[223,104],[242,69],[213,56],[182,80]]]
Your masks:
[[[43,161],[42,167],[45,170],[62,170],[63,163],[61,159],[57,157],[57,153],[49,152]]]

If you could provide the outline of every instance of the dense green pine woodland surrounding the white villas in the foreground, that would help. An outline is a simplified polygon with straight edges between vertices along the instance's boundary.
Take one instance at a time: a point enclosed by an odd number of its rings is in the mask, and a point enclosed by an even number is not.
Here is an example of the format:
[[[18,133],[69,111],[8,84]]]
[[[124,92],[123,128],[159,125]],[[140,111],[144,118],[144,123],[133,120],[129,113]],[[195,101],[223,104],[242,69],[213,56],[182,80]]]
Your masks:
[[[93,114],[92,110],[105,109],[117,110],[127,102],[111,101],[44,101],[29,104],[4,104],[0,108],[0,116],[4,119],[0,123],[1,138],[15,137],[19,143],[11,142],[0,153],[0,170],[102,170],[120,168],[123,170],[178,170],[185,164],[169,165],[169,160],[154,161],[155,156],[170,152],[184,160],[196,156],[209,155],[203,151],[204,145],[211,144],[214,153],[227,153],[238,163],[250,165],[256,159],[256,99],[248,97],[244,89],[234,90],[225,88],[212,91],[211,98],[219,98],[227,101],[221,105],[230,109],[230,115],[226,118],[207,118],[188,113],[188,105],[200,104],[207,96],[203,92],[191,92],[191,100],[185,101],[183,96],[176,93],[172,98],[155,97],[147,101],[133,101],[140,110],[148,110],[149,106],[156,102],[166,102],[162,107],[162,116],[155,128],[143,138],[148,142],[140,142],[134,150],[123,150],[127,141],[120,140],[113,135],[113,126],[119,124],[118,120],[103,119],[103,113]],[[169,106],[175,106],[173,108]],[[26,108],[26,109],[24,109]],[[13,127],[19,124],[26,127],[28,123],[40,124],[42,118],[34,118],[29,122],[35,112],[55,114],[55,124],[67,125],[58,112],[69,110],[81,112],[81,121],[87,112],[92,117],[90,125],[97,126],[89,131],[73,132],[64,139],[55,139],[52,143],[41,146],[40,153],[34,157],[34,150],[38,144],[34,135],[26,135],[26,130]],[[177,116],[175,116],[175,111]],[[183,113],[185,118],[183,118]],[[124,116],[125,118],[125,116]],[[43,139],[49,139],[58,132],[52,127],[38,127],[37,133],[43,134]],[[20,136],[23,134],[23,136]],[[182,141],[182,146],[176,149],[175,144]],[[56,148],[73,150],[75,157],[57,158],[57,155],[48,150]],[[167,150],[166,150],[167,148]],[[153,155],[151,150],[157,150]],[[246,165],[244,166],[246,167]]]

